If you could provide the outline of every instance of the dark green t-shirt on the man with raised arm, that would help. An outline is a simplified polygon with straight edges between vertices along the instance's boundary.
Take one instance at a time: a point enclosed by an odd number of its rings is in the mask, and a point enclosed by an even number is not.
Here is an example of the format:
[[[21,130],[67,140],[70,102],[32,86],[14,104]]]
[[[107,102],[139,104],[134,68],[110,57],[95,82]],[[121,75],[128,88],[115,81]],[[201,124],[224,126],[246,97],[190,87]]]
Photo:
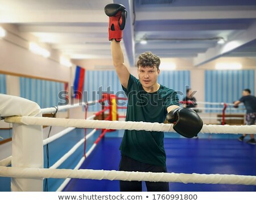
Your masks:
[[[144,91],[141,82],[130,74],[127,89],[128,98],[126,121],[163,123],[167,107],[179,105],[177,93],[160,85],[156,92]],[[120,146],[121,153],[127,157],[157,166],[166,166],[166,153],[163,145],[163,132],[144,130],[125,130]]]

